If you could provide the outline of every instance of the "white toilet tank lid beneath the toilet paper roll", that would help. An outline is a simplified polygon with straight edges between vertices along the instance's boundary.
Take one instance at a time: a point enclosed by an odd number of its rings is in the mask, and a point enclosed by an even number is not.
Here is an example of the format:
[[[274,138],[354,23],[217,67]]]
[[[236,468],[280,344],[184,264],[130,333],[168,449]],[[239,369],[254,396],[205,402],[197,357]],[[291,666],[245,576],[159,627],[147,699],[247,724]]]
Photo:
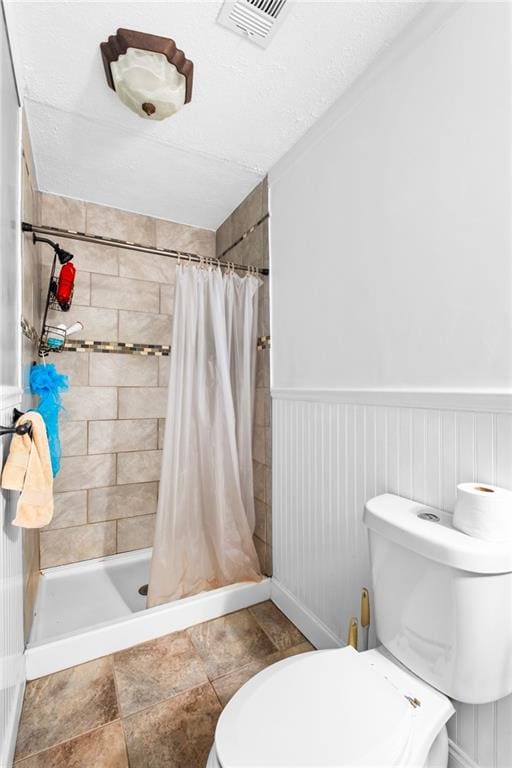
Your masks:
[[[431,513],[433,522],[419,517]],[[471,573],[511,573],[512,541],[491,542],[468,536],[452,525],[452,515],[411,499],[383,493],[370,499],[365,525],[395,544],[430,560]]]

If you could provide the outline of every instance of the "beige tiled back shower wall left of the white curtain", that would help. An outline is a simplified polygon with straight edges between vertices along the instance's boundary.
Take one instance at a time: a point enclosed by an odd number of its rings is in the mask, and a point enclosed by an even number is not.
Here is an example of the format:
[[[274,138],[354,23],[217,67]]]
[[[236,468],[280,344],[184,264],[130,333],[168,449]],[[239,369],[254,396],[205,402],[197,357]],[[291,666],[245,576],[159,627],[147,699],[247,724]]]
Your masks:
[[[77,200],[41,194],[49,226],[148,246],[214,256],[215,233]],[[77,281],[68,313],[76,338],[170,344],[175,261],[113,247],[60,240],[75,254]],[[41,289],[52,251],[41,248]],[[71,337],[73,338],[73,337]],[[113,352],[52,355],[70,378],[61,418],[62,468],[55,515],[41,531],[41,567],[151,546],[160,476],[169,357]]]

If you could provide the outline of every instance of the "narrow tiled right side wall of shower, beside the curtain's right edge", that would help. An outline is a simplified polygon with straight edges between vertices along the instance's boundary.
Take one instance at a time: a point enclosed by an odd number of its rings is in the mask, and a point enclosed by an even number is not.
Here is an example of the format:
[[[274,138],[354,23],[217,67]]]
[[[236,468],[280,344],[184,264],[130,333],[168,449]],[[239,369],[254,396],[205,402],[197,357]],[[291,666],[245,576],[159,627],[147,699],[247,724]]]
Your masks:
[[[236,264],[268,267],[268,185],[261,182],[217,230],[217,256],[230,248],[223,259]],[[264,219],[262,221],[262,219]],[[258,222],[261,222],[258,224]],[[253,229],[251,232],[250,230]],[[244,239],[237,241],[247,234]],[[237,243],[234,247],[233,244]],[[268,277],[259,291],[258,336],[270,333]],[[270,349],[260,345],[256,357],[256,402],[254,415],[253,466],[256,530],[254,543],[262,570],[272,573],[272,448],[270,408]]]

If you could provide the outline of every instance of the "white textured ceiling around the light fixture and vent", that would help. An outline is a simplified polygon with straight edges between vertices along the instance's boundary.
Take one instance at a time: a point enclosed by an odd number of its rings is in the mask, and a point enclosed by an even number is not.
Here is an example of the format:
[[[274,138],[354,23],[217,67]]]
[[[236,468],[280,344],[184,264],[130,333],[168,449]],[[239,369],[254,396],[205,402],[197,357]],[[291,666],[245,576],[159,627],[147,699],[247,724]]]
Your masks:
[[[40,188],[216,228],[423,5],[290,1],[262,50],[216,24],[213,0],[7,0]],[[120,26],[194,62],[192,102],[169,120],[107,87],[98,46]]]

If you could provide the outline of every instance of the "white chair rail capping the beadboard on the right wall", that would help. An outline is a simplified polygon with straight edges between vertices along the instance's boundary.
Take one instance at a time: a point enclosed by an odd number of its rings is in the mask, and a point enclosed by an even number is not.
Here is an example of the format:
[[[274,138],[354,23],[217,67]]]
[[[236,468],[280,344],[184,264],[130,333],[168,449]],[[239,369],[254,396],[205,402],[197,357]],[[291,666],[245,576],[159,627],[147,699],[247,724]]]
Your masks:
[[[273,400],[511,413],[512,390],[272,389]]]

